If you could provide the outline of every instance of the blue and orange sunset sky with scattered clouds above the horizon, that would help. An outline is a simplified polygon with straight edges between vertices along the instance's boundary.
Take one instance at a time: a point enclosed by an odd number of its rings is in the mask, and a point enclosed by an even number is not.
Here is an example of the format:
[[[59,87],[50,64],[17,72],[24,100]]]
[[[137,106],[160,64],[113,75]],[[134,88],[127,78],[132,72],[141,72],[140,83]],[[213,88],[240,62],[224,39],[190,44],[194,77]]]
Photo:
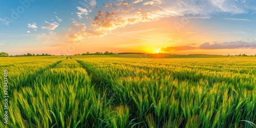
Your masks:
[[[0,2],[0,50],[256,54],[253,0],[20,0]]]

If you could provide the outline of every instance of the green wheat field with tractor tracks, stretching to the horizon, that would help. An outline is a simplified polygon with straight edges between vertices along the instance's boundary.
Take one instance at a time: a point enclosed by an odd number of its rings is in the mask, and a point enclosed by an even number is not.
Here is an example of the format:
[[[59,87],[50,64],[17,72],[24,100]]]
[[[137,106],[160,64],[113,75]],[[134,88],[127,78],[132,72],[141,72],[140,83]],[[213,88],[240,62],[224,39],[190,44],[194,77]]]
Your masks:
[[[0,127],[255,127],[256,57],[87,55],[0,61]]]

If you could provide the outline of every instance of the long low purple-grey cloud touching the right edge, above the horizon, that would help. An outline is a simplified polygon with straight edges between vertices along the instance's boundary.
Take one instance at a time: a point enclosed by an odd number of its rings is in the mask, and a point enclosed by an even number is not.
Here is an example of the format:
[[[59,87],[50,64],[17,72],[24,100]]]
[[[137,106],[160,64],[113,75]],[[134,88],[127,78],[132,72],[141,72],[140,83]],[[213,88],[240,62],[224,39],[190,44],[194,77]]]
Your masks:
[[[245,42],[245,41],[230,41],[230,42],[215,42],[214,44],[210,44],[209,42],[205,42],[204,44],[199,46],[200,49],[248,49],[256,48],[256,42]]]

